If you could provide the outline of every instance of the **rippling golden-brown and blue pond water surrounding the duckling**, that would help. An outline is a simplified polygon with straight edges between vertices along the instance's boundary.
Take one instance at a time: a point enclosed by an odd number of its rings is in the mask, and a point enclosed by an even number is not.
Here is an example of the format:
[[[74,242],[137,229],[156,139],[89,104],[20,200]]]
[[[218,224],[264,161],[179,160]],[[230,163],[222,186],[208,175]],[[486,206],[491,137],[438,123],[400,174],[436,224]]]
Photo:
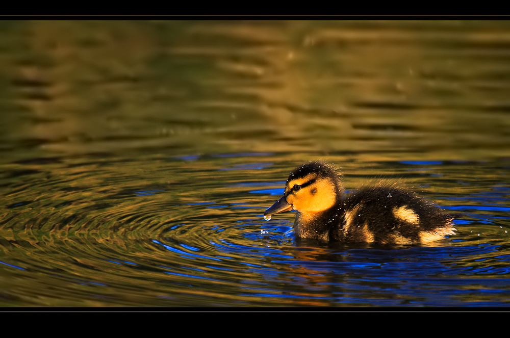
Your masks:
[[[0,24],[1,306],[508,306],[510,24]],[[296,166],[455,214],[424,245],[265,221]]]

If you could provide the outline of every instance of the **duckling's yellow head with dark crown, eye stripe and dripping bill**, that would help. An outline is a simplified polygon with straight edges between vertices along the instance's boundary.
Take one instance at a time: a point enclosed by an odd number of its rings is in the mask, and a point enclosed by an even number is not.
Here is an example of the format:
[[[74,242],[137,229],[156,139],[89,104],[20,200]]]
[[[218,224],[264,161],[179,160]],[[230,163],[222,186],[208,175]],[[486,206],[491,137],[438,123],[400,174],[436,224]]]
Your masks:
[[[333,166],[322,161],[305,163],[289,174],[284,195],[264,216],[291,209],[305,214],[321,213],[340,200],[342,191],[340,177]]]

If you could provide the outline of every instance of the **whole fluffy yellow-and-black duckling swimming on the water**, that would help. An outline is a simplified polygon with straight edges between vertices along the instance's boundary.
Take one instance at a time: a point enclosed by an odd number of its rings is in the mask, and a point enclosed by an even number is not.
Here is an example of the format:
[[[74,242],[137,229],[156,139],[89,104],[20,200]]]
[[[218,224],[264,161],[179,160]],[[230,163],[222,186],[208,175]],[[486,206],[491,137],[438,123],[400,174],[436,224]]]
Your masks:
[[[455,235],[453,216],[411,191],[380,183],[344,196],[333,166],[315,161],[289,174],[285,193],[264,213],[296,210],[297,237],[340,242],[427,243]]]

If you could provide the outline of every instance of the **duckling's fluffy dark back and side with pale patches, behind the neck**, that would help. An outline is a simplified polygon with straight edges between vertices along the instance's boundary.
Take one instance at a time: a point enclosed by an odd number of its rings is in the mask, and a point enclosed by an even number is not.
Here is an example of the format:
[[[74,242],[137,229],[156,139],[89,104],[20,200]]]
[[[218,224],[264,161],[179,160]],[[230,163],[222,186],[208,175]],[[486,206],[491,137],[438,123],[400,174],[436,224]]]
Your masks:
[[[365,188],[340,202],[330,239],[343,242],[425,243],[454,235],[453,217],[410,191]]]

